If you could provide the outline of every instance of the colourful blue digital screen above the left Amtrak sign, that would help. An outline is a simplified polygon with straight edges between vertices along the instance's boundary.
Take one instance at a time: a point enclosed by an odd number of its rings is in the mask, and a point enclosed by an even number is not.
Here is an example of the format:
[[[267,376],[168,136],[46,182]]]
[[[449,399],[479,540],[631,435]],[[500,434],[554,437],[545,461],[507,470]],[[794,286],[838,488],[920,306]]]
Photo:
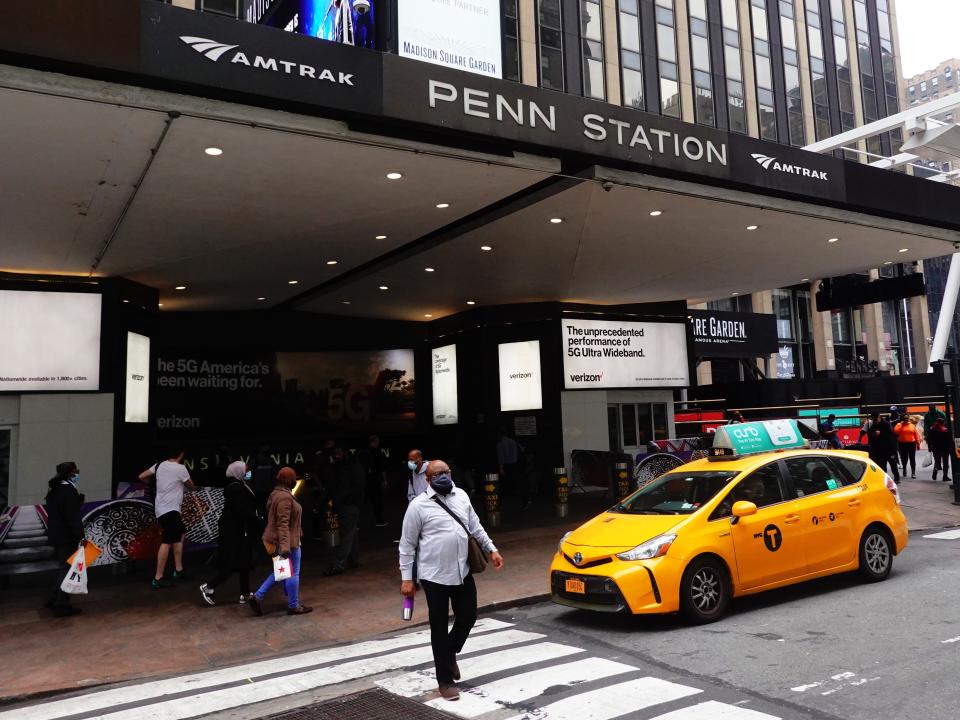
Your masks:
[[[381,49],[377,12],[381,0],[279,0],[261,23],[330,42]]]

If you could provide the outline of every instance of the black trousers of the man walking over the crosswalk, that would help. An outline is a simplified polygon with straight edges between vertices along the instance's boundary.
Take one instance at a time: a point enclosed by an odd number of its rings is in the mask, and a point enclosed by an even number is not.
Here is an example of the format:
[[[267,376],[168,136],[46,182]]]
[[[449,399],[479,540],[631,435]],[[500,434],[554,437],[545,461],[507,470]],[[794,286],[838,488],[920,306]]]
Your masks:
[[[430,613],[430,644],[437,668],[437,684],[453,684],[453,662],[477,622],[477,585],[467,575],[463,585],[439,585],[421,580]],[[453,627],[447,631],[449,608],[453,608]]]

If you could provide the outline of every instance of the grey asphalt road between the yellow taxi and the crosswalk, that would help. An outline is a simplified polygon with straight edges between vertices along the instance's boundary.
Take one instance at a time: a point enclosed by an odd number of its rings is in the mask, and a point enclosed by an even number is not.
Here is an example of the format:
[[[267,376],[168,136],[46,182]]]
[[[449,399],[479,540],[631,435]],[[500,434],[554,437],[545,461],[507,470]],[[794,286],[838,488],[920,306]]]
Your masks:
[[[798,709],[844,720],[960,714],[960,539],[912,535],[885,582],[837,576],[743,598],[702,627],[549,603],[511,615],[759,696],[784,717]]]

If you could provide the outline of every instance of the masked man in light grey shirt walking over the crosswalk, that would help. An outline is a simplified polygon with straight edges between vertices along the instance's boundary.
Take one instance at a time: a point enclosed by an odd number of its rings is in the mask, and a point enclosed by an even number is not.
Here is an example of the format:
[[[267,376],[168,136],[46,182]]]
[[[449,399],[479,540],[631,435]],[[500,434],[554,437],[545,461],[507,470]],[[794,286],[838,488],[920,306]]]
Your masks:
[[[457,653],[463,649],[477,621],[477,586],[467,561],[467,531],[440,503],[461,520],[470,536],[490,554],[490,560],[497,570],[503,567],[503,558],[480,524],[469,495],[453,484],[449,466],[442,460],[433,460],[427,466],[426,475],[427,491],[410,502],[403,517],[400,592],[406,597],[412,597],[415,592],[413,561],[419,549],[417,568],[420,584],[427,596],[430,644],[433,646],[437,684],[442,697],[457,700],[460,697],[454,684],[460,679]],[[448,632],[447,619],[451,606],[454,623]]]

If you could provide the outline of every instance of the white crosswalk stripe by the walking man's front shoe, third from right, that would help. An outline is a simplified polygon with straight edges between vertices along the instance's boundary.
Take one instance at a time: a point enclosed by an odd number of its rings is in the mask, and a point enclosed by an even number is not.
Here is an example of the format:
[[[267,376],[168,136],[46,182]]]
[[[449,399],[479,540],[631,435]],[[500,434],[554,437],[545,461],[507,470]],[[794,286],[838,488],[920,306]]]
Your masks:
[[[636,668],[613,660],[587,658],[479,685],[460,693],[460,700],[455,703],[437,699],[429,701],[427,705],[446,710],[452,715],[475,718],[484,713],[502,710],[515,703],[539,697],[547,688],[579,685],[631,671],[635,672]]]

